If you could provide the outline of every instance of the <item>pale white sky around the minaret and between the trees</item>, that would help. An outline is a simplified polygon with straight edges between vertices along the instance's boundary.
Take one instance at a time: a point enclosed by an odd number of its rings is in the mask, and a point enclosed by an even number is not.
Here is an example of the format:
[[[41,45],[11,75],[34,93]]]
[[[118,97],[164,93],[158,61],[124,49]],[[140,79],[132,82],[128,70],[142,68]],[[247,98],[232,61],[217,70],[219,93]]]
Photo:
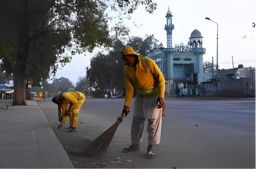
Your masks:
[[[130,29],[130,36],[154,37],[166,47],[166,13],[169,9],[173,15],[172,47],[183,42],[187,44],[193,30],[197,29],[203,36],[203,48],[206,53],[204,61],[217,61],[217,24],[218,23],[218,65],[220,69],[233,68],[238,64],[244,67],[256,67],[256,1],[255,0],[153,0],[157,3],[154,14],[148,14],[144,6],[137,8],[131,20],[125,20]],[[206,20],[210,18],[214,22]],[[72,56],[72,60],[56,78],[69,78],[74,84],[79,77],[86,75],[90,58],[95,53]]]

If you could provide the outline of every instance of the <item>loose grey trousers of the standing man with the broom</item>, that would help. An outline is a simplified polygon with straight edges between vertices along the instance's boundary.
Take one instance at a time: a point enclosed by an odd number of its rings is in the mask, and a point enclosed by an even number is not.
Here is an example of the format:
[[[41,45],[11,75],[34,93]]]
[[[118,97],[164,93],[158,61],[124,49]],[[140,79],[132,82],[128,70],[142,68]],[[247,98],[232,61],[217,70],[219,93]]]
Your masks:
[[[162,108],[158,109],[156,102],[157,97],[141,97],[139,94],[134,97],[132,102],[132,143],[139,144],[144,134],[148,136],[148,145],[152,145],[153,148],[160,143]]]

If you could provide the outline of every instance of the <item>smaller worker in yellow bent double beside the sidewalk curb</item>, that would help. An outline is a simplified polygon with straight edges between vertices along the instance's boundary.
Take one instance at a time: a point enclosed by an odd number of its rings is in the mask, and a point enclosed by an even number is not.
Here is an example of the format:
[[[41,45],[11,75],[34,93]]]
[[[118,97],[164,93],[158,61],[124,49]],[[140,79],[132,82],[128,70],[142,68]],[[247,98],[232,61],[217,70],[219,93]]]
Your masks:
[[[68,132],[75,132],[78,131],[77,124],[78,124],[78,115],[80,108],[82,107],[85,96],[81,92],[65,92],[63,94],[60,94],[58,99],[53,98],[53,102],[58,104],[59,111],[61,111],[61,117],[59,117],[59,121],[62,124],[66,123],[67,116],[69,117],[70,127],[72,128]],[[57,101],[56,101],[57,100]],[[58,128],[62,126],[62,124],[59,125]]]

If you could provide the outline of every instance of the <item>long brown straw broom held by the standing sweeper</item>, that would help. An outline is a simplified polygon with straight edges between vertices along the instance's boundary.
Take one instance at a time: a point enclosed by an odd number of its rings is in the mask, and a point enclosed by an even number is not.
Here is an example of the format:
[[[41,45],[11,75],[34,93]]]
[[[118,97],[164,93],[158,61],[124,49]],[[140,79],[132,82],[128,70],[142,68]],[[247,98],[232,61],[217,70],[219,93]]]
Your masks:
[[[113,136],[115,135],[116,129],[119,124],[123,121],[125,114],[122,114],[121,117],[117,119],[117,121],[109,127],[105,132],[103,132],[100,136],[98,136],[92,143],[92,145],[86,150],[86,154],[96,155],[98,153],[104,152],[110,142],[112,141]]]

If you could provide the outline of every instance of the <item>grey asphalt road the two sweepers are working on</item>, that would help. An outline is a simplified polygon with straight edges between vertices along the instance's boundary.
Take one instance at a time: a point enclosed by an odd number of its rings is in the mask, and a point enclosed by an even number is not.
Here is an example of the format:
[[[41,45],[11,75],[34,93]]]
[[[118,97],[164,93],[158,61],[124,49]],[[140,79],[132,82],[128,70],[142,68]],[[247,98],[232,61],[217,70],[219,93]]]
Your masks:
[[[254,168],[255,99],[167,97],[160,144],[147,158],[128,146],[132,114],[119,125],[107,152],[98,157],[75,155],[121,115],[124,99],[86,99],[79,114],[79,132],[58,130],[57,105],[49,98],[38,105],[76,168]],[[69,122],[60,129],[69,127]],[[66,130],[65,130],[66,131]]]

